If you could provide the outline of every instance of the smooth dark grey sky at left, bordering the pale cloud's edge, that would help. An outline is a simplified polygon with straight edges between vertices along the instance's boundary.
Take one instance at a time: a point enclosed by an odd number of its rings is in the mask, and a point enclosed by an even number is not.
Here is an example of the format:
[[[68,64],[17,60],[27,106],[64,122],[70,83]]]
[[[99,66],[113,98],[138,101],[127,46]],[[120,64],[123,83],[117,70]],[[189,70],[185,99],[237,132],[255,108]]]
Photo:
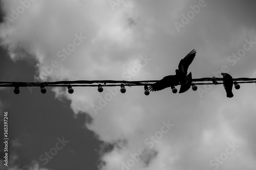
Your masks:
[[[13,63],[3,50],[1,56],[2,80],[33,82],[35,69],[31,65]],[[1,101],[1,111],[9,112],[10,169],[36,167],[35,161],[49,169],[97,169],[102,142],[84,127],[90,117],[82,113],[74,117],[70,101],[56,100],[51,90],[43,95],[39,89],[30,93],[27,88],[20,89],[18,95],[11,88],[1,90]],[[46,161],[40,161],[39,156],[49,152],[62,136],[70,142],[44,165]]]

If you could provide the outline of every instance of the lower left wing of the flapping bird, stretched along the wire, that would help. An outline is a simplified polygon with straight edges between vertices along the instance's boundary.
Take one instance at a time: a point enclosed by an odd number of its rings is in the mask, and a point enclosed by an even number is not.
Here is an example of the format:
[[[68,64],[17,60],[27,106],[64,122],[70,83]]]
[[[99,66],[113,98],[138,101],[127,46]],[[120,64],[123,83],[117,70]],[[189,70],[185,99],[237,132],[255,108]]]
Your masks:
[[[154,83],[152,86],[148,88],[150,91],[159,91],[171,86],[177,86],[179,82],[177,80],[176,75],[165,76],[162,80]]]

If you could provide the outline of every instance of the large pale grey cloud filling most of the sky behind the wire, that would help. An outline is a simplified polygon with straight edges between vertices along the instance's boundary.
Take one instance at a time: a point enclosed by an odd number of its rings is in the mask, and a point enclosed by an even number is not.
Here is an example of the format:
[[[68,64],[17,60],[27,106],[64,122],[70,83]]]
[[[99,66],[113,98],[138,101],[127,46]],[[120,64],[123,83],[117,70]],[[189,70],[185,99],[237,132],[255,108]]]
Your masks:
[[[236,19],[236,12],[243,13],[247,5],[234,1],[243,8],[233,11],[228,3],[206,3],[178,33],[174,21],[180,22],[181,14],[198,1],[124,1],[113,11],[108,1],[95,5],[92,1],[38,0],[9,27],[1,23],[1,45],[14,61],[36,60],[35,78],[42,81],[121,80],[123,73],[145,54],[152,60],[131,76],[132,80],[161,79],[174,74],[180,59],[193,48],[198,51],[189,67],[194,78],[212,77],[212,71],[220,70],[222,65],[228,65],[233,77],[249,77],[254,71],[255,47],[236,66],[226,60],[246,38],[256,37],[250,27],[251,14],[247,22]],[[11,18],[10,9],[21,4],[5,0],[2,5],[5,16]],[[79,43],[79,36],[86,38]],[[107,88],[100,94],[92,87],[74,88],[72,95],[63,88],[53,91],[56,98],[71,101],[75,114],[84,112],[93,118],[87,127],[99,140],[114,144],[112,151],[102,153],[101,169],[121,169],[125,165],[133,169],[212,169],[209,162],[220,157],[227,143],[232,142],[239,148],[219,163],[219,169],[253,169],[256,137],[244,135],[253,133],[253,122],[246,126],[254,118],[253,89],[248,86],[234,91],[236,98],[230,100],[220,85],[212,86],[203,98],[195,91],[173,94],[168,89],[144,96],[142,88],[126,87],[125,94],[118,92],[97,114],[92,104],[99,106],[110,93]],[[157,141],[150,138],[168,120],[175,126]],[[145,140],[153,142],[152,148]],[[146,153],[136,161],[131,155],[139,153],[140,148]]]

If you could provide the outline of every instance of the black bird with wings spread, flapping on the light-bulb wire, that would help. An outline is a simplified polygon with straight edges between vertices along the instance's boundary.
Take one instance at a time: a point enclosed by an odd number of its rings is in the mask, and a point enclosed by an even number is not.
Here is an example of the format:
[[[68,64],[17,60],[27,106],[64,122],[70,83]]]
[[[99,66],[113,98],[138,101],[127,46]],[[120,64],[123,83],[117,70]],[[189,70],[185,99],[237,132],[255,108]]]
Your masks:
[[[167,87],[172,87],[181,84],[179,93],[187,91],[191,87],[192,75],[191,72],[187,75],[188,66],[192,63],[196,56],[196,50],[192,50],[183,59],[180,60],[178,69],[176,69],[176,75],[165,76],[160,81],[154,83],[148,89],[150,91],[158,91]]]

